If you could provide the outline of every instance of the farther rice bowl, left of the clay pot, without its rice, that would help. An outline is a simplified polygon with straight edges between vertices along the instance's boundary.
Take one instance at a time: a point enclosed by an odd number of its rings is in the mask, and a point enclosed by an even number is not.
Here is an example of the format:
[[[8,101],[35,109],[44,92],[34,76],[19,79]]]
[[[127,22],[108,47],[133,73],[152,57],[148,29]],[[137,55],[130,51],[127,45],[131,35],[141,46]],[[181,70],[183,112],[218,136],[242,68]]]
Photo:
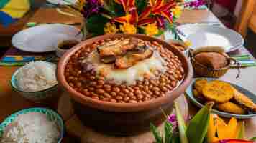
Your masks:
[[[22,95],[22,97],[24,97],[25,99],[28,99],[29,101],[32,101],[35,103],[44,103],[60,95],[60,92],[58,90],[58,84],[55,84],[53,87],[50,87],[48,89],[44,89],[37,92],[22,91],[22,89],[19,89],[17,86],[16,76],[18,73],[19,73],[19,69],[17,69],[17,71],[15,71],[14,74],[12,74],[12,79],[11,79],[12,89],[14,89],[16,92],[19,92],[19,94]]]

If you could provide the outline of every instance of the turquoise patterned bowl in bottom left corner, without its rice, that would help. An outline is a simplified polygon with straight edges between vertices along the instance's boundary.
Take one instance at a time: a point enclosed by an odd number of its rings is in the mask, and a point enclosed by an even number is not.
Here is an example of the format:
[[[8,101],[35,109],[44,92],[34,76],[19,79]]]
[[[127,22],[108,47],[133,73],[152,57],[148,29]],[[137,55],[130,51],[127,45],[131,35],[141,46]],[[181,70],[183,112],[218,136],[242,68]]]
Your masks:
[[[55,122],[60,131],[60,137],[58,139],[58,143],[61,142],[61,140],[63,139],[63,136],[64,136],[64,132],[65,132],[63,118],[58,113],[54,112],[51,109],[47,109],[47,108],[28,108],[28,109],[22,109],[19,112],[11,114],[9,117],[7,117],[4,120],[4,122],[1,122],[1,124],[0,124],[0,138],[4,134],[5,127],[8,124],[10,124],[11,122],[13,122],[14,119],[16,119],[19,114],[26,114],[29,112],[40,112],[42,114],[45,114],[47,116],[47,119],[49,119],[52,122]]]

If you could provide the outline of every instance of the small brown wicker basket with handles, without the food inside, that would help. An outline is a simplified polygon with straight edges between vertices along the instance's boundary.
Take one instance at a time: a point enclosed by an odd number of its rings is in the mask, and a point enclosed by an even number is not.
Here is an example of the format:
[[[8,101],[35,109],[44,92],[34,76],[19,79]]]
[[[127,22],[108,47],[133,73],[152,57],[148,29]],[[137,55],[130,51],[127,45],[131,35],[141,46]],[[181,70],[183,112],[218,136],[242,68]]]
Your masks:
[[[234,63],[237,63],[237,61],[235,59],[232,59],[227,54],[224,54],[224,56],[226,56],[228,59],[227,66],[225,66],[221,69],[212,69],[207,66],[204,66],[203,64],[198,63],[198,61],[196,61],[194,59],[193,51],[189,51],[189,56],[191,57],[191,63],[192,63],[193,70],[194,70],[196,76],[200,76],[200,77],[219,78],[227,73],[227,71],[230,69],[232,61],[234,61]]]

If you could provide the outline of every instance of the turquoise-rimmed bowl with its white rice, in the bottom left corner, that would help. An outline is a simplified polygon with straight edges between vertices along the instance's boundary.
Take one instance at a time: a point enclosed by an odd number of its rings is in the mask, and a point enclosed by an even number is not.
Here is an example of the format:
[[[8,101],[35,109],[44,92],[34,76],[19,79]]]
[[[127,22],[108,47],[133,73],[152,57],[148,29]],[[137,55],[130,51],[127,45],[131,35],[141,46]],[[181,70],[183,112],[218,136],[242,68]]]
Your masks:
[[[0,124],[0,143],[60,143],[63,119],[51,109],[23,109]]]

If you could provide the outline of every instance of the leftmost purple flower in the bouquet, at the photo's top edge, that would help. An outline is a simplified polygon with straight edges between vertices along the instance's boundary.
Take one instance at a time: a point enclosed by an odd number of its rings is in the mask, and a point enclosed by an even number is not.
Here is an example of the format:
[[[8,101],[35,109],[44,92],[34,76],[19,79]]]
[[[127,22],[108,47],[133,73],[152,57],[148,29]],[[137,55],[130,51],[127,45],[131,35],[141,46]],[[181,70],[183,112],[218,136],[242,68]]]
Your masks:
[[[83,9],[83,16],[87,19],[91,14],[98,14],[103,8],[103,4],[99,0],[87,0]]]

